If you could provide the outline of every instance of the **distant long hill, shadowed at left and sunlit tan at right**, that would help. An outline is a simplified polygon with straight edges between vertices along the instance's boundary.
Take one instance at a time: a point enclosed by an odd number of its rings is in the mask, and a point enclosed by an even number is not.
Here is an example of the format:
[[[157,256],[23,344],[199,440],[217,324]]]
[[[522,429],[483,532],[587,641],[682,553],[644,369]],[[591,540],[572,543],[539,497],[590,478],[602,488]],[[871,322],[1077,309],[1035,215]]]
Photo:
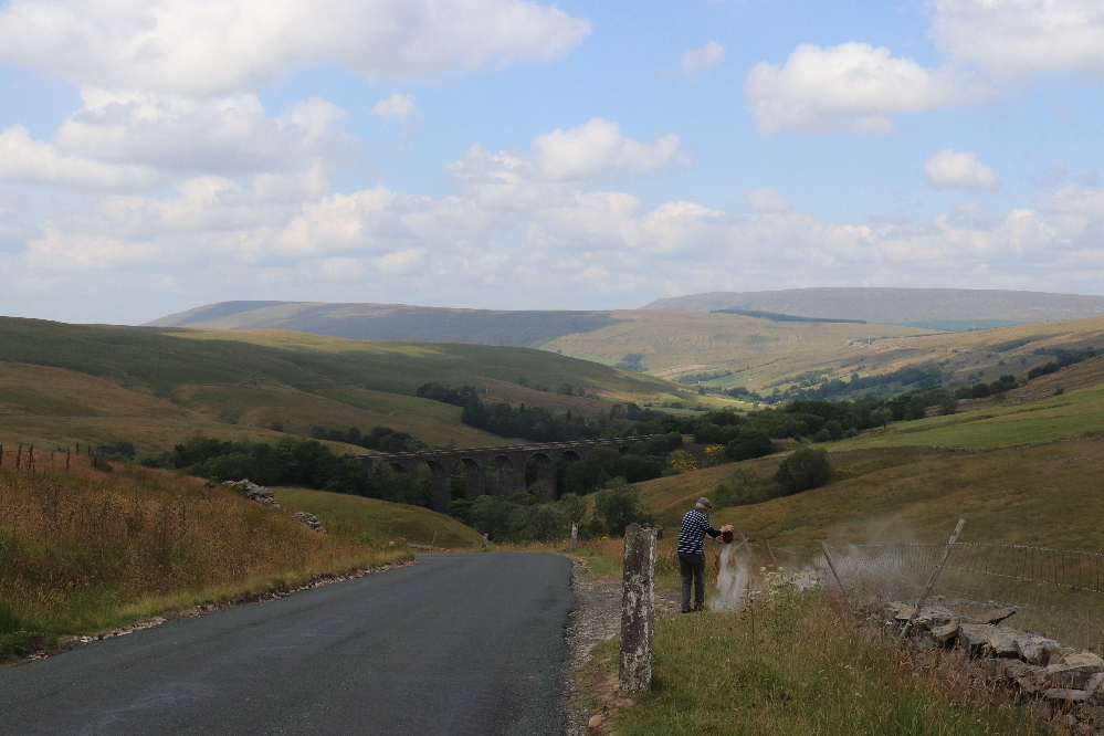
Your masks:
[[[287,329],[353,339],[535,347],[608,366],[639,355],[634,365],[652,374],[843,345],[859,338],[927,332],[884,324],[778,322],[775,317],[674,309],[495,312],[317,302],[224,302],[162,317],[147,326]]]

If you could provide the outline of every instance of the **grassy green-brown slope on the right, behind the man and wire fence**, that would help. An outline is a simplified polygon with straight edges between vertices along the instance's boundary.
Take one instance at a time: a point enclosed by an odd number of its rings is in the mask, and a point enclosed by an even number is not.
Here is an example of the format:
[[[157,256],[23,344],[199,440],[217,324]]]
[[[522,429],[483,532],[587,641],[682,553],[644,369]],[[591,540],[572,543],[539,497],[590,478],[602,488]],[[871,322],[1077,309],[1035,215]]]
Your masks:
[[[824,445],[835,470],[821,487],[724,508],[714,524],[796,549],[821,542],[936,542],[959,516],[964,542],[1104,549],[1104,359],[1047,377],[1089,383],[1033,402],[890,424]],[[1019,389],[1033,390],[1033,383]],[[770,477],[780,456],[642,483],[645,508],[677,527],[700,495],[737,467]]]

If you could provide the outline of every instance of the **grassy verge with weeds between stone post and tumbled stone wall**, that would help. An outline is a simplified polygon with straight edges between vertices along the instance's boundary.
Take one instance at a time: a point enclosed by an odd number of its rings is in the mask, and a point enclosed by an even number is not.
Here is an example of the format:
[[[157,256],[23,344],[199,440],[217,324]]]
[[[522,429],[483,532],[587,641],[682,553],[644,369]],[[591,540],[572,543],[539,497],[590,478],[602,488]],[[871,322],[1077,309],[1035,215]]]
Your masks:
[[[616,666],[616,646],[602,651]],[[950,667],[914,660],[816,589],[764,595],[736,612],[661,618],[652,692],[623,707],[619,736],[1028,735]]]

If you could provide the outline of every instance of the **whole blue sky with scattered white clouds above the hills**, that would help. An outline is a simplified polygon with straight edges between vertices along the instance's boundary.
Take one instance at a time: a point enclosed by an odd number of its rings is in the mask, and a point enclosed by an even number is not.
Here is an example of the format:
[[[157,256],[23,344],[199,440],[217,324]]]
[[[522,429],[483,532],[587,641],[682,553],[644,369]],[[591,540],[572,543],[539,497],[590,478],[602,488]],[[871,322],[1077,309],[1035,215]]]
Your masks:
[[[1100,0],[7,0],[0,314],[1104,293]]]

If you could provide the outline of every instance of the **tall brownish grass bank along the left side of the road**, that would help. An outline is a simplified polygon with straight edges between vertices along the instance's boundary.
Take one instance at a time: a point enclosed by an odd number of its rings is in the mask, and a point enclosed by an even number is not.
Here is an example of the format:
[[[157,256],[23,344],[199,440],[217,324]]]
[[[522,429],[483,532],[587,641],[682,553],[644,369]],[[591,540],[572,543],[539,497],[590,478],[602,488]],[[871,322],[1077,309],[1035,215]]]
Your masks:
[[[320,535],[164,471],[0,470],[0,659],[42,637],[294,586],[409,553]],[[8,651],[6,652],[4,649]]]

